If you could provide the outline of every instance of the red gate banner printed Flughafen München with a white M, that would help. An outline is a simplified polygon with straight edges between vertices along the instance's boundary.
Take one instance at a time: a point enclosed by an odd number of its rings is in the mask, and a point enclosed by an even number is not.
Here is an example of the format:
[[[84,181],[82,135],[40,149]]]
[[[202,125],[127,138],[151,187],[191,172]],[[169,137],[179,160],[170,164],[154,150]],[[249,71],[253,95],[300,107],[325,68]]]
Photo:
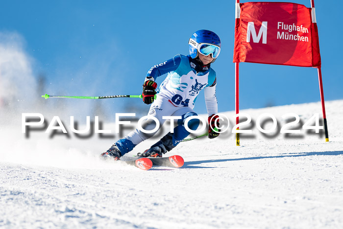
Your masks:
[[[246,2],[236,10],[233,62],[320,67],[318,28],[311,8],[288,2]]]

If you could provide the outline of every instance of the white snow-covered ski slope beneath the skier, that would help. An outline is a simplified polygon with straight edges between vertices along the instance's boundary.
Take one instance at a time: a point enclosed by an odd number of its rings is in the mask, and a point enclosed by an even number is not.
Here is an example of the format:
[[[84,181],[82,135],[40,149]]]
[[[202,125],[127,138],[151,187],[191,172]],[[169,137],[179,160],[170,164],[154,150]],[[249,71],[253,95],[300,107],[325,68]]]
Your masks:
[[[343,101],[325,105],[330,142],[319,134],[267,138],[255,128],[237,147],[234,134],[221,134],[180,143],[169,153],[184,157],[180,169],[99,160],[118,138],[51,140],[32,132],[25,139],[20,127],[1,127],[0,227],[342,228]],[[306,120],[321,107],[242,112]]]

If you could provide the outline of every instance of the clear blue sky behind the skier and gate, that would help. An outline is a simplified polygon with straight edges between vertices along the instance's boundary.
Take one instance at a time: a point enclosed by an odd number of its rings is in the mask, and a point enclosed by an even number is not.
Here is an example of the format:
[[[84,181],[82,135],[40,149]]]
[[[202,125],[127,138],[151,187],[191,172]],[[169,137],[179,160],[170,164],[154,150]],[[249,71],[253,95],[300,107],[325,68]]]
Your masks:
[[[222,43],[221,54],[212,67],[217,72],[219,111],[223,112],[235,109],[234,2],[1,1],[0,33],[20,36],[33,75],[47,78],[46,93],[104,96],[141,94],[152,65],[177,53],[188,54],[189,37],[198,29],[212,30]],[[310,0],[293,2],[310,7]],[[326,101],[343,99],[343,26],[341,7],[335,7],[341,2],[316,0],[315,4],[324,97]],[[32,100],[42,98],[37,94]],[[101,101],[110,113],[122,112],[127,102],[148,109],[139,99],[113,100]],[[319,100],[317,69],[240,64],[241,109]],[[79,100],[68,103],[95,104]],[[195,110],[206,113],[203,94]]]

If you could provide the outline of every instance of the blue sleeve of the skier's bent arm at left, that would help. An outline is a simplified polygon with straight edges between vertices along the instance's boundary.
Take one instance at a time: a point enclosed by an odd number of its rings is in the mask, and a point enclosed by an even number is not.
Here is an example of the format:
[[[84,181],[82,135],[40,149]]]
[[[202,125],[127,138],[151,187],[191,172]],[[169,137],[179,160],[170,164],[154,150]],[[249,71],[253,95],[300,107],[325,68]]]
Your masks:
[[[162,76],[166,73],[175,71],[181,63],[181,55],[177,54],[172,59],[164,61],[160,64],[152,66],[147,72],[145,81],[152,80],[155,81],[158,76]]]

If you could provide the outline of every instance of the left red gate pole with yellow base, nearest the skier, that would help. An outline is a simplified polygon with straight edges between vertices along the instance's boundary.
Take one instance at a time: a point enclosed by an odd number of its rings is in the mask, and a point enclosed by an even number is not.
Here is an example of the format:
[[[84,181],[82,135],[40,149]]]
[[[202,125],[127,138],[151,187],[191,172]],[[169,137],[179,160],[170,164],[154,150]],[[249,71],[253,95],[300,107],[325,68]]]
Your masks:
[[[237,25],[237,21],[240,20],[240,11],[241,11],[241,8],[240,8],[240,0],[236,0],[236,25]],[[235,28],[236,28],[236,25],[235,25]],[[236,114],[239,113],[239,110],[240,110],[240,106],[239,106],[239,77],[240,77],[240,74],[239,74],[239,62],[236,62],[235,63],[235,110],[236,110]],[[236,125],[239,124],[239,117],[237,116],[236,118]],[[237,128],[237,130],[239,130],[239,128]],[[240,133],[236,133],[236,146],[239,146],[240,145]]]

